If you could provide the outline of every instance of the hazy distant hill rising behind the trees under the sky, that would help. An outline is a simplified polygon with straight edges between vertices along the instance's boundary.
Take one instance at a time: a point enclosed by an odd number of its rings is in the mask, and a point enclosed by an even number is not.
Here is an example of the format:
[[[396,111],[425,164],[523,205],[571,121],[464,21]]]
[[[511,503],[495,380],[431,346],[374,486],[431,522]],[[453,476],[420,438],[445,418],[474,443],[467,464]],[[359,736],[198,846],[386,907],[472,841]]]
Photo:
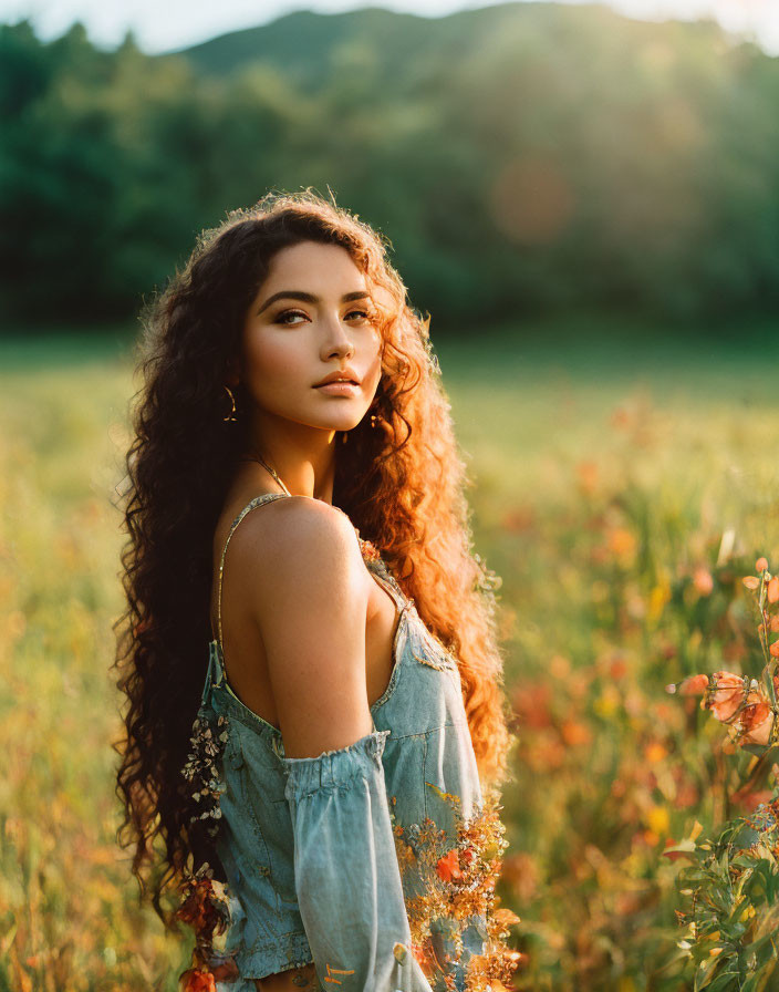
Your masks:
[[[677,27],[690,35],[721,34],[714,21]],[[529,46],[541,39],[571,46],[578,37],[584,41],[612,31],[636,41],[642,35],[667,35],[665,24],[625,18],[602,3],[497,3],[437,18],[366,7],[332,14],[295,11],[168,54],[184,54],[198,71],[217,76],[264,63],[307,92],[334,72],[351,71],[356,80],[388,85],[397,94],[418,92],[439,70],[450,73],[458,64],[482,58],[485,51],[500,52],[501,38],[524,35]],[[521,53],[518,48],[518,60]]]

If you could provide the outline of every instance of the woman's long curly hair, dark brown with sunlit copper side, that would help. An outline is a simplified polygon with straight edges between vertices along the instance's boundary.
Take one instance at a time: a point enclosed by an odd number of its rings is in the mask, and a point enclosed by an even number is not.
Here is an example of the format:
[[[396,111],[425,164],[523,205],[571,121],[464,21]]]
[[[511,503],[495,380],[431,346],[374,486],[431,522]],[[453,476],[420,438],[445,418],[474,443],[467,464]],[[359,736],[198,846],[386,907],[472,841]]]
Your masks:
[[[332,195],[331,195],[332,196]],[[212,535],[245,447],[226,423],[222,383],[239,353],[245,313],[274,254],[303,240],[339,245],[390,304],[377,322],[382,374],[370,417],[336,445],[333,503],[372,541],[429,629],[459,660],[464,701],[485,788],[509,777],[509,711],[495,630],[499,580],[471,554],[468,484],[426,319],[387,259],[391,242],[311,187],[269,193],[204,231],[181,271],[142,310],[142,385],[131,401],[133,441],[122,513],[127,608],[114,624],[117,688],[126,695],[116,793],[117,841],[169,929],[164,896],[208,862],[212,843],[193,823],[181,775],[206,676]],[[236,403],[248,397],[239,385]],[[159,844],[164,844],[164,849]],[[155,850],[155,848],[157,848]]]

